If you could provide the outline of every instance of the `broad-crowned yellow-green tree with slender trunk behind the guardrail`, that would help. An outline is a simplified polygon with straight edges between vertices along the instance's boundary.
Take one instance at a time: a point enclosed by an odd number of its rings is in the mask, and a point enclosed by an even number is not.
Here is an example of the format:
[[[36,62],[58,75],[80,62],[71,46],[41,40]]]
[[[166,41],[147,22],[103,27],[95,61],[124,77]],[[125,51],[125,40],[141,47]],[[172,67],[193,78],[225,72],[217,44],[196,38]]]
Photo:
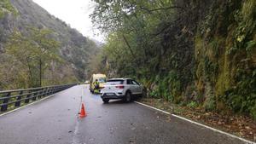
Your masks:
[[[29,28],[29,36],[15,31],[6,44],[7,54],[26,66],[29,86],[42,86],[44,71],[52,61],[60,60],[59,43],[55,41],[48,29]]]

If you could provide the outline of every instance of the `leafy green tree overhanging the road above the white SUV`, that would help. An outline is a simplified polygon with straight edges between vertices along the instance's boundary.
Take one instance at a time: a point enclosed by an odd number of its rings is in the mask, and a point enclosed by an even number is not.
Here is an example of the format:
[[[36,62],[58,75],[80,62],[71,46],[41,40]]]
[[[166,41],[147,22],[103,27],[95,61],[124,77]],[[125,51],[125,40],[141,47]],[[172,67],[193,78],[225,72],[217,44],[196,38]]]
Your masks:
[[[143,75],[144,72],[157,74],[161,69],[166,69],[164,55],[170,47],[166,44],[168,37],[165,30],[176,20],[174,9],[182,7],[175,6],[172,0],[96,3],[98,5],[90,16],[94,24],[111,37],[106,47],[118,51],[115,55],[125,55],[121,59],[114,59],[120,66],[113,68],[122,67],[121,62],[131,64],[120,68],[121,75]],[[118,43],[113,44],[113,41]]]

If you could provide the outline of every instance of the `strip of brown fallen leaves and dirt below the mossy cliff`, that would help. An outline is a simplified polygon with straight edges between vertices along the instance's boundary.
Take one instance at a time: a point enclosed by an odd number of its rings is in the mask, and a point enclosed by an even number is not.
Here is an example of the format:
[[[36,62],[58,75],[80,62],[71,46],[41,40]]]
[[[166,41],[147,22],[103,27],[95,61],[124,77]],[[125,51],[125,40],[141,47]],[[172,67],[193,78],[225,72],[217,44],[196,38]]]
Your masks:
[[[162,99],[144,98],[139,101],[256,142],[256,121],[252,118],[241,115],[221,115],[217,112],[205,112],[199,108],[181,107]]]

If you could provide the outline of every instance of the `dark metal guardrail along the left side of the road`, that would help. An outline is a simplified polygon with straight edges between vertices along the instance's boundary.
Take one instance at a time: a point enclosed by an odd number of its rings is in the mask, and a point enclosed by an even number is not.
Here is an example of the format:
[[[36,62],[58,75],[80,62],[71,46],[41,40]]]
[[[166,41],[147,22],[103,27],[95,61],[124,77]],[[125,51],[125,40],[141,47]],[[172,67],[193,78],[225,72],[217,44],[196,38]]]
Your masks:
[[[55,85],[32,89],[15,89],[0,91],[0,112],[24,106],[31,101],[37,101],[61,90],[68,89],[77,84]]]

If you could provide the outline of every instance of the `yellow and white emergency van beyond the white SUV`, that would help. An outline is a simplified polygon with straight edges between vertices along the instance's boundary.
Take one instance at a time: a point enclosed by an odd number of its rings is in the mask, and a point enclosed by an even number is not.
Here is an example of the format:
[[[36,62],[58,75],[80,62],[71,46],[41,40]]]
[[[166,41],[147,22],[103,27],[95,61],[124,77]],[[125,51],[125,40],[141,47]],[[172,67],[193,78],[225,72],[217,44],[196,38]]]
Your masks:
[[[91,93],[100,93],[104,84],[107,82],[107,76],[105,74],[93,74],[90,78],[90,92]],[[96,85],[98,83],[98,88]]]

